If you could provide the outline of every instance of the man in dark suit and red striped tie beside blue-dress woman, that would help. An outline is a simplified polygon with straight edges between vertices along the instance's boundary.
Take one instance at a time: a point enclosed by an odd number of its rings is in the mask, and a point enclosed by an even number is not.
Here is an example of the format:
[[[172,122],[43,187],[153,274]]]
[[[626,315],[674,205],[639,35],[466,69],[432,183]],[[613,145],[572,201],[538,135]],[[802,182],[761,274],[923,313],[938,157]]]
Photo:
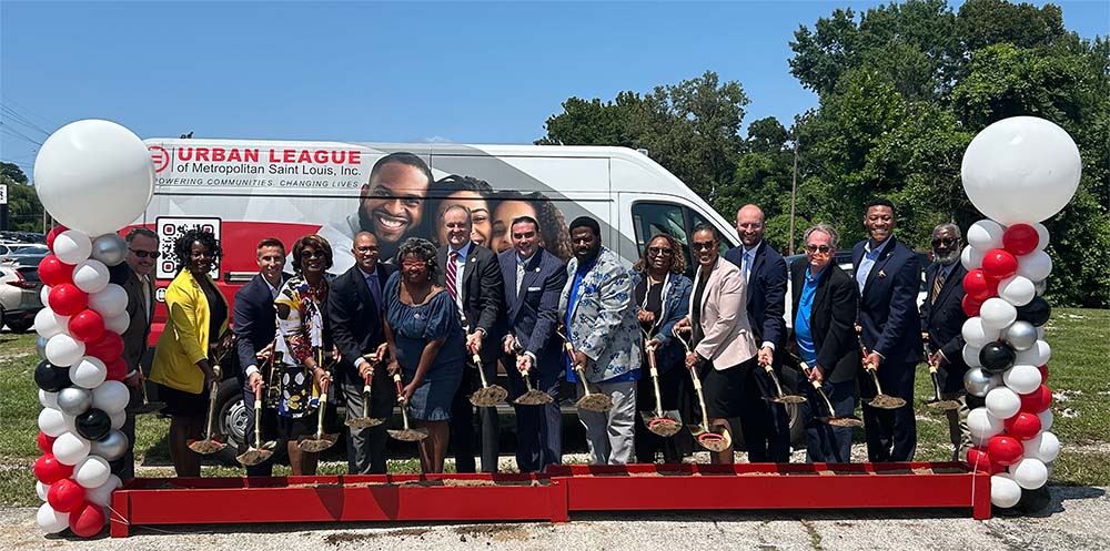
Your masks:
[[[453,204],[443,211],[440,223],[447,229],[447,245],[436,261],[443,266],[440,285],[454,297],[466,330],[468,355],[482,358],[487,379],[497,375],[501,356],[503,279],[497,255],[471,241],[471,211]],[[467,363],[470,364],[470,363]],[[451,440],[455,469],[474,472],[474,406],[467,397],[478,388],[480,377],[467,366],[451,407]],[[482,471],[497,472],[497,409],[478,408],[482,421]]]

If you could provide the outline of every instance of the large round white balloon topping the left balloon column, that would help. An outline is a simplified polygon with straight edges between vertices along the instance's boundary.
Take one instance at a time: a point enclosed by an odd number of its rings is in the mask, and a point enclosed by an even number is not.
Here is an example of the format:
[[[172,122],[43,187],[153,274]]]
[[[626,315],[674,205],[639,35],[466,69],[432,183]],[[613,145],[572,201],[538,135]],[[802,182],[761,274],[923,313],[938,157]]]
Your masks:
[[[154,192],[154,163],[130,130],[109,121],[77,121],[39,149],[34,190],[60,223],[101,235],[134,222],[147,210]]]

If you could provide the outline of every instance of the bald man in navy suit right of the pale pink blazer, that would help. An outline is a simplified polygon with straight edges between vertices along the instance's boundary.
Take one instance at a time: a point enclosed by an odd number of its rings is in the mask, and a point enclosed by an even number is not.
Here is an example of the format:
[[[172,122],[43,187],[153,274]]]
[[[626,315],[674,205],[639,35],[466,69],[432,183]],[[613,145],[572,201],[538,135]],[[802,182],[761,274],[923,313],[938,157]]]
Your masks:
[[[790,460],[789,417],[781,404],[766,401],[775,396],[775,384],[763,366],[774,366],[781,377],[781,361],[776,354],[786,337],[786,261],[764,242],[764,212],[744,205],[736,213],[736,231],[741,245],[725,253],[725,259],[740,268],[747,280],[748,323],[759,343],[758,366],[745,376],[745,416],[740,419],[744,446],[753,462]],[[734,424],[735,425],[735,424]]]

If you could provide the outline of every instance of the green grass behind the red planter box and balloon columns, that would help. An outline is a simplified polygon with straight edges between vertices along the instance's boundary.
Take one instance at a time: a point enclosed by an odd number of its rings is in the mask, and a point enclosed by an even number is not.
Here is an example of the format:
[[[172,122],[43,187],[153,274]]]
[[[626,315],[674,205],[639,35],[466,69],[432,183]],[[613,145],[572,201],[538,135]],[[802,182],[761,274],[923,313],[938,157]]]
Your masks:
[[[1046,327],[1052,346],[1048,385],[1066,399],[1053,401],[1052,431],[1064,443],[1053,465],[1051,481],[1059,484],[1110,484],[1110,378],[1104,375],[1110,358],[1110,310],[1059,308]],[[33,380],[38,357],[34,335],[0,335],[0,506],[37,506],[31,465],[39,457],[39,405]],[[947,460],[950,455],[948,428],[944,416],[930,412],[925,401],[932,389],[922,368],[917,377],[916,409],[918,421],[917,459]],[[135,457],[143,476],[170,477],[165,433],[169,421],[142,416],[138,422]],[[862,431],[856,440],[862,441]],[[415,452],[415,449],[413,449]],[[390,461],[391,472],[417,472],[415,459]],[[324,462],[322,475],[346,471],[342,461]],[[275,466],[274,473],[289,473],[289,467]],[[205,477],[242,476],[242,469],[206,465]]]

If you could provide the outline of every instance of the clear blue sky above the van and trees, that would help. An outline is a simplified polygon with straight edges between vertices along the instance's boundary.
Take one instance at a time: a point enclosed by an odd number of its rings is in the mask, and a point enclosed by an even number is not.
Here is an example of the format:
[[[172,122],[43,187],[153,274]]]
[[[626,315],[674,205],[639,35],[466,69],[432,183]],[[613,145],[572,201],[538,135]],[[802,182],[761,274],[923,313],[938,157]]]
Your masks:
[[[144,139],[531,143],[568,96],[706,70],[744,85],[745,123],[787,122],[816,104],[793,32],[877,3],[0,0],[0,159],[30,173],[42,131],[88,118]],[[1108,34],[1110,2],[1054,3]]]

